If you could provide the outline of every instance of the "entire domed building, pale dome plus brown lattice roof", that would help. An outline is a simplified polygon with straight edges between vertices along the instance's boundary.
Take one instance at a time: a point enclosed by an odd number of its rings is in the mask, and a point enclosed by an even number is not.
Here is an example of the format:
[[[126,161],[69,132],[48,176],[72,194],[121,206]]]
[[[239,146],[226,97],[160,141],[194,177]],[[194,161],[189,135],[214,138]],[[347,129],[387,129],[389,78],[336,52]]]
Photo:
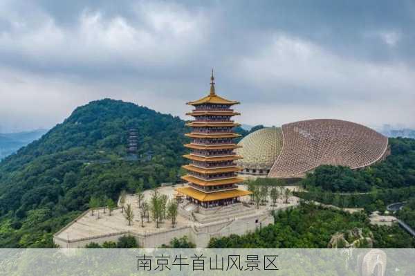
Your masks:
[[[320,165],[359,169],[389,154],[387,137],[354,122],[317,119],[259,129],[243,138],[241,174],[301,178]]]

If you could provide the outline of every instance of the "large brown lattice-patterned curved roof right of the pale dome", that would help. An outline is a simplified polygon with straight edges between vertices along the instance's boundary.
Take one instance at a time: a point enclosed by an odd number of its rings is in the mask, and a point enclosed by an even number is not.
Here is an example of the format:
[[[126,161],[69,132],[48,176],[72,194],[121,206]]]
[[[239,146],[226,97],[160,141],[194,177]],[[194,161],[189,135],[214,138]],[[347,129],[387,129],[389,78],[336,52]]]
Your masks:
[[[284,146],[270,177],[302,177],[319,165],[357,169],[376,163],[387,153],[387,137],[353,122],[305,120],[283,125],[282,131]]]

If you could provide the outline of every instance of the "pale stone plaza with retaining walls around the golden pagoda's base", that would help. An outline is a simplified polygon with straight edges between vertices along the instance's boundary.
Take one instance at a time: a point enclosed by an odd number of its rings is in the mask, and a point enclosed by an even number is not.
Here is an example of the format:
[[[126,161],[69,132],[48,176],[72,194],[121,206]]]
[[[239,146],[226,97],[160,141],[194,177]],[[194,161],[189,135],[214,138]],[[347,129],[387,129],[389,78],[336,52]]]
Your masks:
[[[174,199],[176,187],[183,186],[160,187],[158,192]],[[239,188],[246,190],[245,185],[239,185]],[[144,196],[145,200],[149,200],[151,190],[145,191]],[[82,248],[91,242],[118,241],[124,235],[131,235],[137,239],[140,247],[157,248],[168,244],[173,238],[187,236],[198,248],[205,248],[212,237],[255,231],[274,222],[273,210],[284,210],[299,204],[299,199],[295,196],[291,196],[288,203],[278,199],[275,206],[272,206],[271,200],[268,199],[268,203],[259,205],[259,209],[249,201],[249,197],[246,196],[240,203],[202,208],[184,200],[178,205],[176,226],[172,228],[171,221],[165,219],[159,228],[156,228],[156,223],[151,221],[151,217],[150,222],[147,222],[147,218],[144,219],[142,227],[138,201],[135,195],[129,194],[125,204],[131,204],[133,209],[134,219],[131,226],[124,218],[120,205],[113,210],[111,216],[108,210],[104,213],[103,209],[98,209],[93,215],[91,210],[87,210],[57,232],[53,239],[61,248]]]

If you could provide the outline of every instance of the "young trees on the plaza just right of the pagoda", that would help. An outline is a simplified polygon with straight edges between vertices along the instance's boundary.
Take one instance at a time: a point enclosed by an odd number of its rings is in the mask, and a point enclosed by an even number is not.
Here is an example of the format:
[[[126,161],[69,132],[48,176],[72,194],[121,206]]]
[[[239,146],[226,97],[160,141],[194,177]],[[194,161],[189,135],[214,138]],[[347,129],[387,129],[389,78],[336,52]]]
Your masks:
[[[248,191],[252,192],[250,194],[250,201],[257,205],[266,205],[268,202],[268,197],[273,201],[272,206],[277,205],[278,199],[284,199],[284,203],[288,204],[288,199],[291,196],[291,190],[284,187],[284,182],[282,181],[271,181],[264,182],[259,179],[255,181],[247,181]]]

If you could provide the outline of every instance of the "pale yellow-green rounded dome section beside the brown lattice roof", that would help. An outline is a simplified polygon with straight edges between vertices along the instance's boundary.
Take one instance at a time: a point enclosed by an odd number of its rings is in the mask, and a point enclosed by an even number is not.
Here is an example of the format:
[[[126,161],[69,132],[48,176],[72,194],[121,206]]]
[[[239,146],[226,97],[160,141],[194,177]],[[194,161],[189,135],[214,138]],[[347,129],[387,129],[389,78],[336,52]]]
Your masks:
[[[251,173],[266,172],[273,166],[282,149],[282,129],[270,127],[259,129],[243,138],[236,149],[238,155],[243,159],[237,161],[239,167],[243,167],[244,172],[249,169]],[[249,173],[249,172],[246,172]]]

